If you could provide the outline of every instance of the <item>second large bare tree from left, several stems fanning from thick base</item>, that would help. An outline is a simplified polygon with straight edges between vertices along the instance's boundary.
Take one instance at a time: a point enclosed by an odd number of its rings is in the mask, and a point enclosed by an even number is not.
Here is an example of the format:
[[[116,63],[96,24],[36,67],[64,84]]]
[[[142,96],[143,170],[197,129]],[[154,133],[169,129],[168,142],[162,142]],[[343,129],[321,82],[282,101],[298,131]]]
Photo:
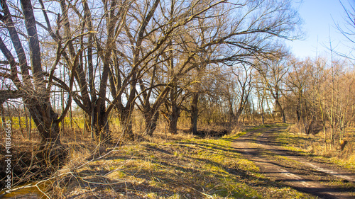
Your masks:
[[[40,2],[45,18],[48,19],[48,9],[41,0]],[[67,47],[60,51],[59,56],[64,60],[65,66],[75,69],[77,87],[72,91],[72,96],[77,106],[86,113],[86,123],[90,124],[92,137],[97,142],[110,140],[108,115],[111,109],[107,110],[106,103],[111,55],[116,47],[116,38],[123,28],[122,21],[129,10],[130,2],[104,1],[99,5],[99,2],[92,4],[81,1],[72,4],[71,1],[63,0],[59,2],[60,5],[54,6],[60,6],[62,11],[58,15],[58,29],[53,31],[46,20],[48,33],[53,40],[58,46],[65,43]],[[90,8],[89,5],[97,7]],[[95,11],[95,16],[92,16],[92,10]],[[97,35],[97,30],[100,30],[101,35]],[[52,70],[53,74],[54,71],[55,68]],[[69,86],[62,86],[62,89],[70,92]]]

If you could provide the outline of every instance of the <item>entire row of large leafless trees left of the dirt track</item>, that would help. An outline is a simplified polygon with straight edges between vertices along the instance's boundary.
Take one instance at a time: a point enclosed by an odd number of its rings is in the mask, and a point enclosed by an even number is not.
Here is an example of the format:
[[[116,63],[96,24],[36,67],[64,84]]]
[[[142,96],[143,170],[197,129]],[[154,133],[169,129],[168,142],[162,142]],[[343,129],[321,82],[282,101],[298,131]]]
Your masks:
[[[170,106],[174,129],[182,102],[188,97],[196,131],[199,81],[207,74],[205,70],[267,57],[275,52],[271,38],[297,38],[293,33],[299,22],[290,1],[82,0],[74,4],[39,0],[33,4],[41,11],[37,20],[31,2],[21,1],[21,10],[16,3],[1,2],[1,51],[7,59],[2,63],[9,66],[1,76],[16,87],[4,91],[1,101],[21,96],[33,120],[38,120],[38,128],[43,128],[43,139],[49,136],[50,142],[58,137],[58,123],[70,111],[72,100],[84,110],[92,137],[98,142],[110,140],[108,117],[112,110],[120,115],[124,137],[133,139],[131,114],[135,106],[145,115],[146,132],[151,135],[160,107]],[[16,14],[11,15],[12,11]],[[13,22],[16,15],[20,17]],[[24,25],[16,28],[15,23]],[[46,39],[42,45],[48,45],[43,55],[38,33]],[[25,39],[29,40],[29,54],[23,47]],[[10,42],[13,49],[8,47]],[[41,62],[44,54],[45,60],[53,62],[45,62],[45,70]],[[27,67],[27,57],[31,67]],[[59,75],[62,72],[68,74]],[[185,80],[194,73],[194,79]],[[67,101],[60,102],[60,116],[50,106],[53,86],[67,96]],[[188,91],[188,86],[197,89]],[[24,92],[23,88],[31,89]],[[35,108],[41,103],[45,106]]]

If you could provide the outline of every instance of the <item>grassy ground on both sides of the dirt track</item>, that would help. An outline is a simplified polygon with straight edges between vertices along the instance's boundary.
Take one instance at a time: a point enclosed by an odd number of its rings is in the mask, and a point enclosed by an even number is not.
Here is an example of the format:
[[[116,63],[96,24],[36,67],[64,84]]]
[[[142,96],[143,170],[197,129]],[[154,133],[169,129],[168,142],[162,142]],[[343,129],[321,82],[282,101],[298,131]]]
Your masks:
[[[79,121],[79,122],[77,122]],[[75,123],[82,125],[80,119]],[[70,123],[70,121],[68,121]],[[68,125],[67,126],[70,126]],[[260,165],[233,145],[247,133],[273,127],[287,127],[275,137],[278,146],[303,157],[355,171],[353,142],[343,152],[333,149],[321,153],[322,135],[295,133],[293,125],[261,125],[228,127],[222,137],[198,137],[185,133],[170,135],[163,127],[153,137],[141,137],[136,142],[111,144],[104,147],[91,142],[80,128],[67,127],[62,142],[69,157],[58,171],[45,180],[40,172],[29,172],[32,178],[21,176],[18,191],[13,195],[43,198],[315,198],[317,195],[300,191],[294,186],[275,181],[263,174]],[[37,142],[26,139],[14,126],[13,152],[23,172],[28,165]],[[77,130],[79,129],[79,130]],[[209,130],[223,130],[210,127]],[[348,137],[353,134],[349,130]],[[35,133],[33,132],[33,135]],[[121,142],[120,142],[121,143]],[[266,153],[269,154],[270,153]],[[273,158],[278,157],[273,155]],[[278,159],[283,159],[278,157]],[[38,159],[36,159],[38,160]],[[285,161],[285,160],[283,160]],[[22,164],[21,164],[22,162]],[[29,166],[28,168],[25,168]],[[25,169],[25,170],[23,170]],[[33,169],[31,170],[33,171]],[[27,175],[31,176],[31,175]],[[33,181],[34,179],[37,179]],[[32,183],[28,183],[32,182]],[[336,181],[334,181],[336,182]],[[339,181],[341,182],[341,181]],[[351,186],[351,185],[347,185]],[[10,197],[11,195],[4,195]],[[29,196],[28,196],[29,197]]]

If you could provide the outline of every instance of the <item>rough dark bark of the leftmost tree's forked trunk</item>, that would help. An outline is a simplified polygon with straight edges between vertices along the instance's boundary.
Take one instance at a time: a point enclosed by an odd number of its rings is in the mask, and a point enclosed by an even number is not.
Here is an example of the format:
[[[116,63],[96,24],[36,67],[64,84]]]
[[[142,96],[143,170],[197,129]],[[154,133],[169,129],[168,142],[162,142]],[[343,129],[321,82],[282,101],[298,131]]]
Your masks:
[[[1,6],[3,6],[3,8],[5,6],[6,12],[9,14],[9,9],[4,1],[1,1]],[[48,152],[50,152],[49,149],[53,148],[51,145],[60,145],[58,114],[54,112],[52,106],[50,105],[49,93],[45,89],[40,45],[37,34],[38,32],[35,27],[35,17],[31,1],[21,0],[21,7],[23,10],[23,16],[25,17],[26,30],[28,33],[28,44],[33,73],[33,84],[31,85],[29,82],[25,82],[25,89],[28,90],[26,95],[23,96],[23,102],[26,104],[29,112],[31,113],[31,118],[33,118],[33,121],[38,128],[38,132],[40,132],[40,137],[42,138],[42,148],[48,149]],[[8,25],[13,25],[11,16],[8,16],[7,21],[9,22]],[[18,33],[16,33],[16,30],[13,30],[13,27],[8,27],[8,30],[13,31],[11,40],[13,43],[17,43]],[[21,42],[16,45],[16,52],[23,52]],[[26,57],[24,57],[24,55],[18,56],[23,59],[21,62],[26,63]],[[28,69],[21,68],[21,72],[23,74],[28,74]]]

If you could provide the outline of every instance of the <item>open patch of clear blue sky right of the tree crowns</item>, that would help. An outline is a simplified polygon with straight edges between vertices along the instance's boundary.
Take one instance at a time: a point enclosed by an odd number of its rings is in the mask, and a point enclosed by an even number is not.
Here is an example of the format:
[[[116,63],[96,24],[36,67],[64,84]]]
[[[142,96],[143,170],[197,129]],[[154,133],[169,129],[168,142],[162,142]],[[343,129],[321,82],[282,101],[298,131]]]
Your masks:
[[[352,1],[352,0],[349,0]],[[348,7],[348,0],[342,0]],[[339,0],[303,0],[299,6],[300,17],[304,24],[302,30],[305,33],[304,40],[288,41],[293,54],[299,58],[316,57],[329,53],[329,38],[332,48],[343,54],[349,54],[351,44],[339,33],[336,23],[345,25],[344,8]]]

